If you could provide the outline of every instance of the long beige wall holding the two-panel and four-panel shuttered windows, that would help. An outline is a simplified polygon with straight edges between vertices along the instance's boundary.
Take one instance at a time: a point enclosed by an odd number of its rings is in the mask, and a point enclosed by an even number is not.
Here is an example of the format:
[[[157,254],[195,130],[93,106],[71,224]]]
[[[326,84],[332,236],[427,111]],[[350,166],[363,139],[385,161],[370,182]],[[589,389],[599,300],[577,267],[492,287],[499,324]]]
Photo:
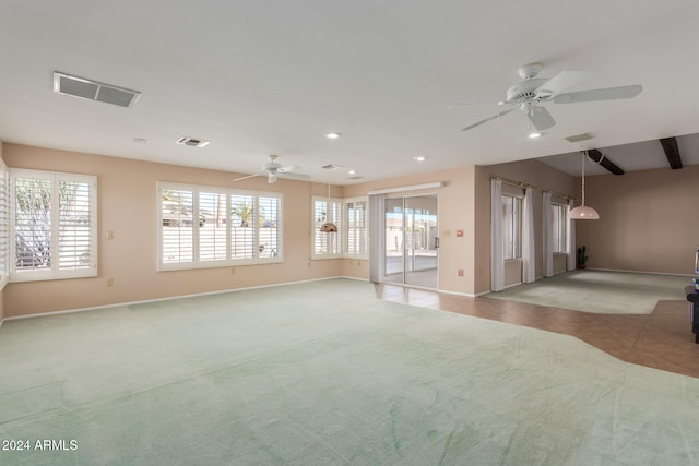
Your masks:
[[[284,262],[194,271],[157,272],[157,181],[233,187],[234,174],[16,144],[4,145],[9,167],[90,174],[98,182],[98,277],[11,283],[4,316],[81,309],[261,285],[339,276],[341,260],[310,260],[311,194],[318,184],[263,177],[241,189],[284,193]],[[333,195],[340,189],[333,187]],[[106,239],[106,231],[114,239]],[[106,279],[114,278],[107,287]]]

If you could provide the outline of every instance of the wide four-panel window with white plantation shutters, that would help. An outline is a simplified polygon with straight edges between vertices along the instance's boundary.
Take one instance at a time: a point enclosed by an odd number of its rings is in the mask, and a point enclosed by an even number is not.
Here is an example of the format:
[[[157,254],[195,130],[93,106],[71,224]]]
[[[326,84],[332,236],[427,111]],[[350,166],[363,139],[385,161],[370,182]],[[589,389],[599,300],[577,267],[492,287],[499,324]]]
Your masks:
[[[282,195],[158,182],[158,270],[282,261]]]

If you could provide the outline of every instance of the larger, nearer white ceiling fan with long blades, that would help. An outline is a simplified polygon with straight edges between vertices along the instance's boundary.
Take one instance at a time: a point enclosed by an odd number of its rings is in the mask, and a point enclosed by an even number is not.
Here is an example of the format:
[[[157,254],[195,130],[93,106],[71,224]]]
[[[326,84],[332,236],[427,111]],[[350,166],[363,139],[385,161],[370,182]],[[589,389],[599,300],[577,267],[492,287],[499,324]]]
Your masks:
[[[490,120],[500,118],[510,111],[519,108],[526,113],[530,122],[538,132],[547,130],[556,124],[548,110],[540,104],[553,101],[554,104],[577,104],[581,101],[617,100],[636,97],[643,91],[640,84],[620,87],[605,87],[601,89],[578,91],[562,93],[580,81],[587,72],[583,70],[564,70],[552,79],[536,77],[543,68],[542,63],[528,63],[519,68],[518,73],[522,80],[518,84],[507,89],[507,99],[498,101],[497,105],[508,105],[512,108],[499,111],[498,113],[469,124],[461,131],[469,131]],[[478,105],[483,103],[457,104],[451,107],[465,105]]]

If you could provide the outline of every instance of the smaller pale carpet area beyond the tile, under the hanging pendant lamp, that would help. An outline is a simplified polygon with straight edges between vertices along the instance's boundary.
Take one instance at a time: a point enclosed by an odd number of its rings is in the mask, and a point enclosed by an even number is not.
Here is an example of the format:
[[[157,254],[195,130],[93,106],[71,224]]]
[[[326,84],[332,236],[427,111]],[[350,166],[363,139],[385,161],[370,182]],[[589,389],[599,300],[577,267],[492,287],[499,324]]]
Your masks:
[[[607,271],[572,271],[540,278],[486,298],[599,314],[650,314],[660,300],[685,300],[691,277]]]

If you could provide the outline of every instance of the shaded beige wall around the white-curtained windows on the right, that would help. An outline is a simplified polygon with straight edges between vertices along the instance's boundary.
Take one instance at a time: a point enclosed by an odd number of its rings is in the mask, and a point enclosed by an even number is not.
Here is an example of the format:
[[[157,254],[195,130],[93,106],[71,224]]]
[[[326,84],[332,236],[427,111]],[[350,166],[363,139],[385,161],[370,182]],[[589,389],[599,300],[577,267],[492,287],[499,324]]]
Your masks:
[[[535,273],[537,278],[543,276],[543,256],[541,253],[543,242],[541,227],[543,224],[543,192],[553,191],[570,196],[577,196],[580,193],[579,180],[538,160],[520,160],[476,167],[476,256],[474,264],[476,294],[490,290],[490,178],[493,177],[521,181],[538,188],[533,190],[534,244],[536,248]],[[506,285],[521,282],[521,263],[519,261],[508,262],[506,270]],[[565,262],[558,259],[555,261],[555,272],[561,272],[561,270],[565,270]]]

